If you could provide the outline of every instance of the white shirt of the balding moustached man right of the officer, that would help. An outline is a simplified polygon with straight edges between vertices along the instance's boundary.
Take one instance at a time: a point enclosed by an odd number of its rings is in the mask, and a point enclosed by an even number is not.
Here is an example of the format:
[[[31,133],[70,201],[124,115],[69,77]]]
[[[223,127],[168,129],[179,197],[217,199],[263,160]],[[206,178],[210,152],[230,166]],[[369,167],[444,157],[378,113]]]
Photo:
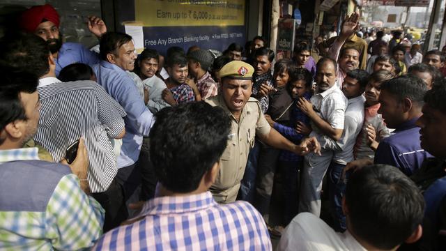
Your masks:
[[[337,83],[333,84],[330,89],[323,91],[322,93],[314,94],[311,98],[311,102],[319,110],[316,112],[323,120],[327,121],[332,128],[344,129],[344,117],[347,107],[347,98],[339,89]],[[340,150],[336,142],[330,137],[324,135],[317,126],[312,123],[313,131],[310,136],[314,136],[318,139],[319,144],[323,149]]]

